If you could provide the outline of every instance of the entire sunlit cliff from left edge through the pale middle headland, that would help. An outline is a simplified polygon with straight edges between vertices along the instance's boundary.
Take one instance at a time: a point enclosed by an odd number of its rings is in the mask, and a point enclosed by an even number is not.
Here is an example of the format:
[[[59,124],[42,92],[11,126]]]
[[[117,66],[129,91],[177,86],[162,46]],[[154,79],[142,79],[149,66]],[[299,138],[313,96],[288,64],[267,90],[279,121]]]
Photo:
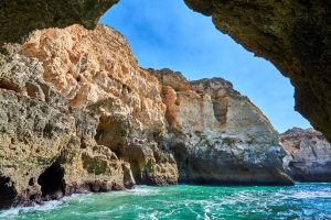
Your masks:
[[[292,184],[278,134],[224,79],[142,69],[102,25],[41,30],[3,50],[2,208],[134,184]]]

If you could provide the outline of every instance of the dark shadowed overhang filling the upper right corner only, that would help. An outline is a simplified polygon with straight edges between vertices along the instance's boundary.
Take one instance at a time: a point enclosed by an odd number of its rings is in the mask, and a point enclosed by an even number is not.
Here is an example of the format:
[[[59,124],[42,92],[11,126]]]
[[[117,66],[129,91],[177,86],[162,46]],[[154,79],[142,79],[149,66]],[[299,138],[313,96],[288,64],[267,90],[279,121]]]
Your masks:
[[[296,88],[296,110],[331,140],[331,1],[184,0]]]

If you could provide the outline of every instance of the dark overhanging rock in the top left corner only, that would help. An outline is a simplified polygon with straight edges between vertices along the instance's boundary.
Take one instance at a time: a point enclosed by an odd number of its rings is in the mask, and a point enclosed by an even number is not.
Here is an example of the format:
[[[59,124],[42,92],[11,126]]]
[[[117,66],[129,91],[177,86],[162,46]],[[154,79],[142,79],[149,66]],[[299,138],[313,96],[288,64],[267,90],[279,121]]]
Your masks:
[[[1,0],[0,44],[19,43],[30,32],[82,24],[94,29],[119,0]]]

